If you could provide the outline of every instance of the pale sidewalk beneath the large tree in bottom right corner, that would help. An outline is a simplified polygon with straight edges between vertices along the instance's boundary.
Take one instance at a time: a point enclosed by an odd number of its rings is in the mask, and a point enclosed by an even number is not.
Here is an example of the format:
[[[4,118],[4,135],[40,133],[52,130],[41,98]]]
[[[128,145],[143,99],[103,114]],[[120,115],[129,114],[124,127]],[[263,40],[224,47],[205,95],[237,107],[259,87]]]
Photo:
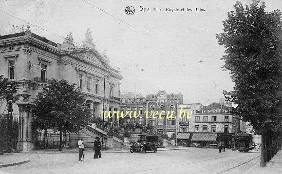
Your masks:
[[[266,167],[259,167],[257,162],[246,173],[282,173],[282,149],[275,154],[271,162],[266,163]]]

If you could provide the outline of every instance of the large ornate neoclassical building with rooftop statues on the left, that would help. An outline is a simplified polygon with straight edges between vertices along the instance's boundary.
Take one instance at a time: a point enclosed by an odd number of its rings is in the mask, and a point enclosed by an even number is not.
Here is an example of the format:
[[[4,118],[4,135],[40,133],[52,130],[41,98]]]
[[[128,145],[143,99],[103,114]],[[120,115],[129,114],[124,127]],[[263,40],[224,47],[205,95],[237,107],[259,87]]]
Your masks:
[[[0,74],[16,81],[18,93],[29,93],[30,99],[52,78],[76,83],[86,94],[93,114],[102,117],[104,79],[105,110],[118,110],[123,76],[109,66],[105,52],[101,55],[92,41],[89,28],[83,43],[76,46],[71,33],[62,44],[54,43],[32,33],[27,25],[23,32],[0,35]],[[2,112],[4,109],[0,108]],[[16,105],[13,110],[18,112]]]

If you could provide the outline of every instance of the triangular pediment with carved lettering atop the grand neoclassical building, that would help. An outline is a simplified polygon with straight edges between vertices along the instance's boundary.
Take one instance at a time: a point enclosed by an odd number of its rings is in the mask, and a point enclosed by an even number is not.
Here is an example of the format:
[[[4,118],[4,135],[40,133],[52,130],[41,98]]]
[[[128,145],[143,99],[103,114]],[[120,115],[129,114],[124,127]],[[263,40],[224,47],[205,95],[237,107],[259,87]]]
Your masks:
[[[85,62],[88,62],[90,64],[97,65],[99,67],[103,67],[103,68],[106,68],[106,69],[110,68],[109,65],[107,65],[107,63],[103,60],[102,57],[96,56],[92,52],[73,53],[71,55],[79,57],[79,59],[81,59]]]

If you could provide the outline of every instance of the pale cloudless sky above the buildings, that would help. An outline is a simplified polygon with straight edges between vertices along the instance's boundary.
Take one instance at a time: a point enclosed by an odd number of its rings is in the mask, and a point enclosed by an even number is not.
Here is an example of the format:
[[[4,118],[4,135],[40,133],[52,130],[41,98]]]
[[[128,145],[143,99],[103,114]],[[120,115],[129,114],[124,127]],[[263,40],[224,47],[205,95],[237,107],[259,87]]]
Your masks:
[[[14,16],[0,11],[0,35],[20,32],[28,22],[31,32],[55,43],[72,32],[74,42],[82,44],[90,28],[97,51],[106,50],[110,65],[123,75],[121,92],[146,96],[163,89],[168,94],[181,92],[184,103],[208,105],[234,87],[230,72],[221,68],[224,47],[216,34],[222,32],[222,21],[236,1],[16,2],[0,0],[0,10]],[[266,11],[282,8],[282,1],[265,2]],[[127,6],[135,8],[133,15],[125,13]]]

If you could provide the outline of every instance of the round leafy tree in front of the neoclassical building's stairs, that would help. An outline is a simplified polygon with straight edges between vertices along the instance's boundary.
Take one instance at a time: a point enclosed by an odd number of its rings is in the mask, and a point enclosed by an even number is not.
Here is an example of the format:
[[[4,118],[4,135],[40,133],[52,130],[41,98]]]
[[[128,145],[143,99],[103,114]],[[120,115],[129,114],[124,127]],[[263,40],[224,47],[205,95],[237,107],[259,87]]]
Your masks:
[[[76,84],[69,85],[66,80],[52,79],[33,103],[32,127],[60,131],[59,150],[62,150],[62,132],[78,132],[91,120],[91,109],[85,104],[85,95]]]

